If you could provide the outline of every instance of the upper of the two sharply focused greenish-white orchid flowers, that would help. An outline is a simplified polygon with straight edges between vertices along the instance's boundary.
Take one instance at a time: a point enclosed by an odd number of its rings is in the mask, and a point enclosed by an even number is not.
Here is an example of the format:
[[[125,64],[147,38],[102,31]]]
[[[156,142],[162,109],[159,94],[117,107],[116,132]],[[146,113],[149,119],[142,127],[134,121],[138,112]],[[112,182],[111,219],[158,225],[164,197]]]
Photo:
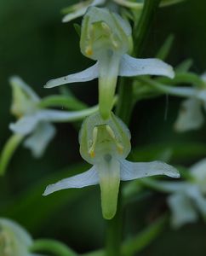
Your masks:
[[[131,27],[127,20],[108,9],[90,7],[83,18],[80,48],[83,55],[96,61],[80,73],[52,79],[44,86],[86,82],[99,79],[100,115],[110,117],[117,76],[163,75],[174,77],[171,66],[158,59],[136,59],[128,53],[133,48]]]

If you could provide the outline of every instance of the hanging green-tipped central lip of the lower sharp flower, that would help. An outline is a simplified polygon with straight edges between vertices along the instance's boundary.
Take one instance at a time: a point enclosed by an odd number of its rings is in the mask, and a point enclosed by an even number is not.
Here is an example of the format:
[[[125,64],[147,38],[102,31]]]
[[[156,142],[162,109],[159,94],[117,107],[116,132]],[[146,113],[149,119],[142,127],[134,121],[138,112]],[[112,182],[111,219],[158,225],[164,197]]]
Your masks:
[[[100,177],[102,214],[104,218],[111,219],[117,211],[120,164],[111,154],[105,154],[95,167]]]

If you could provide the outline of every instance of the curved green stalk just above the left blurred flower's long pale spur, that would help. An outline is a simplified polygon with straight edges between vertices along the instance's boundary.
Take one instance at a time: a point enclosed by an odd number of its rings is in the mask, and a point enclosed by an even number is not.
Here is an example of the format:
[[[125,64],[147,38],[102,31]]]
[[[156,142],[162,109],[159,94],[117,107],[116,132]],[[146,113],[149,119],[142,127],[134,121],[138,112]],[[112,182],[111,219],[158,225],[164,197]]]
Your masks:
[[[72,96],[47,96],[39,103],[40,108],[60,107],[72,110],[88,108],[86,104]]]

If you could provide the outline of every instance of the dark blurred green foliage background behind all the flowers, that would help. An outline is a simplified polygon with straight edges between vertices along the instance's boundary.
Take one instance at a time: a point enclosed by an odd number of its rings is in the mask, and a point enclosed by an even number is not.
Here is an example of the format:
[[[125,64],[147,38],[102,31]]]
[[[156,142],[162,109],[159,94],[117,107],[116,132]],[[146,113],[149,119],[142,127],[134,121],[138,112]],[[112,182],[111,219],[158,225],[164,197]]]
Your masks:
[[[40,96],[58,93],[45,90],[48,79],[76,72],[88,66],[81,55],[78,35],[70,24],[61,23],[60,10],[67,0],[1,0],[0,2],[0,146],[10,135],[9,113],[11,90],[9,76],[17,74],[31,84]],[[206,70],[206,2],[180,3],[159,9],[153,22],[144,56],[152,57],[171,33],[175,43],[167,61],[176,66],[192,58],[192,71]],[[80,23],[80,20],[75,20]],[[71,86],[81,100],[97,102],[96,81]],[[176,134],[173,124],[180,99],[161,96],[138,102],[131,124],[133,150],[130,158],[153,160],[170,150],[173,163],[189,166],[205,157],[205,126],[200,131]],[[25,148],[18,148],[8,173],[0,180],[0,215],[14,218],[31,231],[34,237],[50,237],[65,241],[79,253],[102,247],[105,223],[100,212],[99,187],[70,189],[42,197],[45,186],[61,177],[72,176],[88,168],[78,153],[77,131],[72,125],[57,125],[58,134],[46,154],[35,160]],[[160,156],[161,155],[161,156]],[[73,167],[72,167],[73,166]],[[58,171],[62,170],[63,171]],[[166,208],[164,195],[148,194],[129,204],[125,212],[125,237],[130,237],[152,223]],[[203,223],[186,225],[180,230],[169,226],[139,255],[205,255],[206,236]]]

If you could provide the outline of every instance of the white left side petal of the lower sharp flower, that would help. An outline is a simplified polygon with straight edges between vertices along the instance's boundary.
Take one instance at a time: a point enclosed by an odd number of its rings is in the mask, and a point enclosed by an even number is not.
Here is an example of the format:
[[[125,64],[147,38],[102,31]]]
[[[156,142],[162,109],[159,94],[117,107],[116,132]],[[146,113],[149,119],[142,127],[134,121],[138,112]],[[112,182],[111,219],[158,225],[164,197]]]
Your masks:
[[[43,195],[49,195],[61,189],[83,188],[99,183],[98,173],[93,166],[89,171],[83,172],[73,177],[67,177],[60,180],[58,183],[49,185]]]

